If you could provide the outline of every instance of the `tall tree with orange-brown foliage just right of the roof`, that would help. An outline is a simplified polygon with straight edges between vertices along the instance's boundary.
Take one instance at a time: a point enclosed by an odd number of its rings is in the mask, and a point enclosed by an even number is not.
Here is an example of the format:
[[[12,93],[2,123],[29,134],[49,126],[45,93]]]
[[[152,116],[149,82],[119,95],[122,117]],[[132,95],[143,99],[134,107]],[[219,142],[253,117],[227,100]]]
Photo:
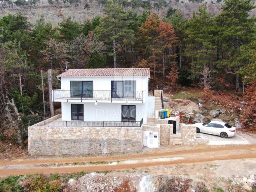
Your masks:
[[[176,71],[176,75],[173,76],[175,80],[171,80],[176,82],[178,78],[175,66],[177,37],[172,25],[163,22],[156,14],[151,13],[146,22],[140,26],[138,33],[143,59],[147,60],[154,72],[154,79],[156,79],[157,74],[162,74],[164,80],[166,70]],[[168,77],[170,76],[168,75]]]

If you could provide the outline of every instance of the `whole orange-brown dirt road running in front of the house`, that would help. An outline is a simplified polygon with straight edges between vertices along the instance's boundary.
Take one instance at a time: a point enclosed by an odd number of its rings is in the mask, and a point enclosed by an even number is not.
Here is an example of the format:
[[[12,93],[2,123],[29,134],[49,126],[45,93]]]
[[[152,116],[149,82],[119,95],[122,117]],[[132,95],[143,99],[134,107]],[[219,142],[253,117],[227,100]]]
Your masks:
[[[177,159],[177,156],[179,159]],[[166,166],[173,164],[189,164],[197,162],[210,162],[215,160],[236,160],[248,158],[256,158],[256,144],[246,146],[221,146],[216,148],[206,147],[201,149],[183,150],[176,152],[163,152],[156,154],[152,153],[93,158],[35,159],[11,162],[2,161],[0,162],[0,176],[35,173],[49,174],[71,173],[81,171],[95,172],[110,170],[127,170],[131,168],[142,168],[149,166]],[[102,164],[97,163],[103,161],[104,163]],[[90,164],[82,164],[80,166],[77,166],[74,164],[77,162],[90,162]],[[68,164],[68,166],[65,166],[62,165],[62,163],[73,164]],[[56,164],[58,164],[58,167],[54,166]]]

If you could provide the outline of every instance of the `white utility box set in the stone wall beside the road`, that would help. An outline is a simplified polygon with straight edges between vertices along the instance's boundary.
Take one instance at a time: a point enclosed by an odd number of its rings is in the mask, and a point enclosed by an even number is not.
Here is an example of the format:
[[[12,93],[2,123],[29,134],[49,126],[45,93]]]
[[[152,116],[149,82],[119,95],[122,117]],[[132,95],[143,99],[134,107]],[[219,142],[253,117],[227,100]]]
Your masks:
[[[143,131],[143,146],[148,148],[158,148],[158,132]]]

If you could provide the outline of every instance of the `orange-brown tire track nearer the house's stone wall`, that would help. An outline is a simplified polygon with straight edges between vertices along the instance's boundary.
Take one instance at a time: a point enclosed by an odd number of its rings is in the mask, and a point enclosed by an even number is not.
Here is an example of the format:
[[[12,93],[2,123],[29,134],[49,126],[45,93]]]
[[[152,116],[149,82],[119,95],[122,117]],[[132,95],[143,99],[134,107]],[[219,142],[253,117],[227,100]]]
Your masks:
[[[136,154],[136,155],[124,155],[124,156],[98,156],[87,158],[49,158],[49,159],[28,159],[28,160],[15,160],[15,161],[0,161],[0,166],[6,165],[21,165],[21,164],[54,164],[54,163],[75,163],[75,162],[99,162],[99,161],[118,161],[129,159],[143,159],[143,158],[159,158],[173,155],[186,155],[186,154],[201,154],[206,152],[218,152],[218,151],[232,151],[232,150],[250,150],[256,149],[256,144],[242,145],[242,146],[218,146],[211,148],[206,146],[205,148],[198,148],[192,150],[180,150],[170,151],[162,153],[148,153],[148,154]]]

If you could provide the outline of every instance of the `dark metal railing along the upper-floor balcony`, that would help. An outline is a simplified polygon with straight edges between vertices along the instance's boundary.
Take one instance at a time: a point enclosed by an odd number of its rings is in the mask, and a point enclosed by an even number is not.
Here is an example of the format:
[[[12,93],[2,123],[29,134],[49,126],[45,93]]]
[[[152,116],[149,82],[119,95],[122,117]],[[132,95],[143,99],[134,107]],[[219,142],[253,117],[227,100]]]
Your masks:
[[[143,91],[52,90],[55,100],[136,100],[143,102]]]

